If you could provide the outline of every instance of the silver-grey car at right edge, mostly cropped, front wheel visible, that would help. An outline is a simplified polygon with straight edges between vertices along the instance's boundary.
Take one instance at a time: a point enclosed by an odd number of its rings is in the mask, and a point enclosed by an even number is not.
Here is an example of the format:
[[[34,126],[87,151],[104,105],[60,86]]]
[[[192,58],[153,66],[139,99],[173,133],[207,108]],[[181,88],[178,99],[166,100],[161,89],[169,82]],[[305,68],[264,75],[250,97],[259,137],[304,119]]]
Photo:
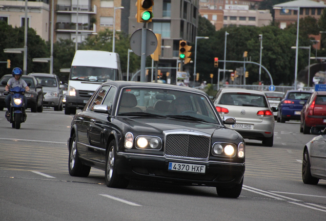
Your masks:
[[[305,184],[317,185],[320,179],[326,180],[326,129],[312,127],[314,137],[303,148],[302,181]]]

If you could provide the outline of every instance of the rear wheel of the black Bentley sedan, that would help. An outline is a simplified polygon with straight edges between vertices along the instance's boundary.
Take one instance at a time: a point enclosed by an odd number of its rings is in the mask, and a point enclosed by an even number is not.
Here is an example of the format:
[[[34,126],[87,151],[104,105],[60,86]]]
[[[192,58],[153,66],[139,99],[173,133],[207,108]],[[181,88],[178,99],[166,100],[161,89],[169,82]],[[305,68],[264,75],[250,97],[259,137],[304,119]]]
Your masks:
[[[82,164],[78,157],[77,139],[75,134],[72,136],[69,144],[68,168],[71,176],[87,177],[91,171],[91,167]]]

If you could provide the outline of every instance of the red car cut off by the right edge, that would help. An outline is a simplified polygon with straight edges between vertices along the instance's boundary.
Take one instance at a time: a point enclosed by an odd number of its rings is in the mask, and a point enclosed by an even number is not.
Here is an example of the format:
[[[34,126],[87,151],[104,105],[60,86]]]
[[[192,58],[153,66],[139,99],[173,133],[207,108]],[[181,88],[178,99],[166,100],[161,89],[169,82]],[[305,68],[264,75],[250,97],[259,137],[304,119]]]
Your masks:
[[[311,127],[326,127],[326,92],[314,92],[301,111],[300,132],[310,134]]]

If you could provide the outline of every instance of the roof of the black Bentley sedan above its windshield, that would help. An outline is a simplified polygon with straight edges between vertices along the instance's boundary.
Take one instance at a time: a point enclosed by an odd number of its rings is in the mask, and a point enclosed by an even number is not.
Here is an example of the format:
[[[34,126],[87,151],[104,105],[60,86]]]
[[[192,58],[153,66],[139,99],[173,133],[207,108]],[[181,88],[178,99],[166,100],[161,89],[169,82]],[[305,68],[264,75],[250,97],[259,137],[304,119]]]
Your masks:
[[[152,83],[152,82],[135,82],[135,81],[107,81],[103,85],[115,85],[116,87],[155,87],[159,89],[178,90],[206,95],[205,92],[192,87],[177,86],[171,84]]]

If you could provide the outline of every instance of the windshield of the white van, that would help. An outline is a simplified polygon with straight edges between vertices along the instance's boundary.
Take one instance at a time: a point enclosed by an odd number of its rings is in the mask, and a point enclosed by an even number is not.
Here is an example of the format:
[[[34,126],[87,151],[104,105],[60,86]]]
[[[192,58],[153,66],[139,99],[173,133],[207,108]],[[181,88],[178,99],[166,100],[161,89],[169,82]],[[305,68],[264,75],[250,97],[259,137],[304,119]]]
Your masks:
[[[69,80],[106,82],[116,80],[117,69],[74,66],[72,67]]]

